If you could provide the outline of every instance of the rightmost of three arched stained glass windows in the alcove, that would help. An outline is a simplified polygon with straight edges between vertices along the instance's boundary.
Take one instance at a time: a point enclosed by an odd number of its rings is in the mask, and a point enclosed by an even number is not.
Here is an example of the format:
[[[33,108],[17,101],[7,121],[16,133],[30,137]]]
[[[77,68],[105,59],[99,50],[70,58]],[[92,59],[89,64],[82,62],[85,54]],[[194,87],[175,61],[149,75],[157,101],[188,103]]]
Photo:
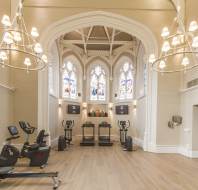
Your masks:
[[[120,69],[119,77],[119,99],[133,98],[133,66],[128,62]]]

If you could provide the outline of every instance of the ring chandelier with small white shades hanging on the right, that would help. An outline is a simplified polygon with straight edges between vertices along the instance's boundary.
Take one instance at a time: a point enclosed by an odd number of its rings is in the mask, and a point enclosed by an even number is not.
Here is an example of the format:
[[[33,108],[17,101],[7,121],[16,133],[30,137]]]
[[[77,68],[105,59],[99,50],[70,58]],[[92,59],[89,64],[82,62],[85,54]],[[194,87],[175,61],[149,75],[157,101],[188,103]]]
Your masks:
[[[177,17],[170,29],[162,29],[163,43],[159,57],[154,54],[149,56],[152,69],[160,73],[186,72],[198,67],[198,24],[191,21],[186,29],[180,7],[176,11]]]

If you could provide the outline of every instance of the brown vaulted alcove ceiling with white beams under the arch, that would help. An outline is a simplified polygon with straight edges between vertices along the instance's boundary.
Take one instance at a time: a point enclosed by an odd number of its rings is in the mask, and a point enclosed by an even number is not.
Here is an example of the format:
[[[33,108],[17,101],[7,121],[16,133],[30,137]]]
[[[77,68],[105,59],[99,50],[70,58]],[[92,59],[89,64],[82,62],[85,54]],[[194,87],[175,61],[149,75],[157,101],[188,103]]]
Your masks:
[[[111,56],[115,50],[125,49],[135,51],[139,40],[120,30],[106,26],[91,26],[81,28],[65,34],[61,37],[61,43],[65,48],[77,47],[85,55],[90,52],[103,52]]]

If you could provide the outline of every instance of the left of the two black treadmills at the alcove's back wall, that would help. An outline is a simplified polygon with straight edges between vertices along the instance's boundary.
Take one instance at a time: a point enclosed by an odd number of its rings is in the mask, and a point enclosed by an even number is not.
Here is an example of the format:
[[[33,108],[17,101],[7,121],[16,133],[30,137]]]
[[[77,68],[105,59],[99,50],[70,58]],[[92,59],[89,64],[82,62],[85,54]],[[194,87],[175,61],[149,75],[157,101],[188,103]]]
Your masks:
[[[95,145],[95,125],[91,122],[85,122],[82,126],[82,141],[81,146],[94,146]],[[85,135],[85,129],[91,129],[92,135]]]

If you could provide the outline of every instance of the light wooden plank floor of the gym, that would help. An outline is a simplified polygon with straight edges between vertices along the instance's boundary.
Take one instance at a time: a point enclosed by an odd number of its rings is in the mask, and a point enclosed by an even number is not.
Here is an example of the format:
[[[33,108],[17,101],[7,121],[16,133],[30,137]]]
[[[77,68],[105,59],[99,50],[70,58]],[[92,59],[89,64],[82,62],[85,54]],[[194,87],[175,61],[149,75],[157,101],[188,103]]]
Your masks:
[[[60,172],[60,190],[198,190],[198,159],[140,149],[123,152],[118,144],[76,145],[69,151],[53,151],[44,170]],[[0,183],[1,190],[39,188],[52,189],[51,179],[9,179]]]

